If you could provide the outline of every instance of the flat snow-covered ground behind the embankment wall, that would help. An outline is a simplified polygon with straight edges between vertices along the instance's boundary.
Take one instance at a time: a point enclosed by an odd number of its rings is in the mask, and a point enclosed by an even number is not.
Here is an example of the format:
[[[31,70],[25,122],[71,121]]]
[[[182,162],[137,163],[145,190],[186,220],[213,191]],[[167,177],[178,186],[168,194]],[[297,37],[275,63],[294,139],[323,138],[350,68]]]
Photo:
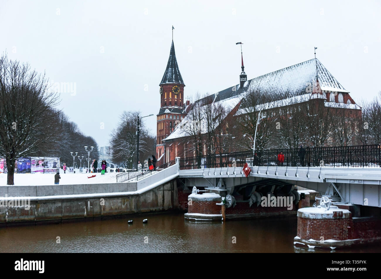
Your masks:
[[[60,169],[59,175],[61,179],[59,184],[115,183],[117,182],[115,176],[118,173],[120,172],[106,172],[104,175],[101,175],[100,172],[80,174],[79,170],[76,169],[75,174],[71,174],[69,171],[64,174],[64,171]],[[54,185],[54,174],[14,174],[14,185]],[[87,178],[94,174],[96,177]],[[6,176],[7,174],[0,174],[0,186],[6,186]]]

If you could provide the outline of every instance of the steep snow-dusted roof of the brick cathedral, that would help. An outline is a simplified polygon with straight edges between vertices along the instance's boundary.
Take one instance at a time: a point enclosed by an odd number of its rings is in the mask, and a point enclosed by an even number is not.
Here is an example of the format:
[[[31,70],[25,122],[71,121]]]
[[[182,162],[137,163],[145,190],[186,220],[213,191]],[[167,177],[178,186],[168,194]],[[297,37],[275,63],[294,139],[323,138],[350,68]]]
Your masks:
[[[221,102],[224,106],[231,109],[242,100],[248,92],[257,92],[259,96],[265,96],[266,103],[259,104],[255,110],[264,110],[277,106],[280,104],[305,102],[311,98],[322,97],[322,94],[314,93],[316,88],[316,69],[317,79],[321,90],[347,92],[344,87],[334,78],[330,72],[321,64],[318,59],[311,59],[299,64],[277,70],[275,72],[267,73],[260,77],[253,78],[246,81],[243,87],[240,84],[226,88],[222,91],[211,94],[207,97],[199,99],[194,102],[203,101],[203,103]],[[329,102],[326,102],[328,104]],[[288,103],[289,104],[289,103]],[[334,103],[337,104],[337,103]],[[347,108],[359,108],[355,104],[346,104]],[[242,108],[239,108],[235,115],[243,114]],[[184,117],[182,125],[188,122],[188,117]],[[176,126],[174,131],[164,140],[176,139],[179,137],[187,136],[181,131],[181,124]],[[202,127],[203,129],[203,127]]]

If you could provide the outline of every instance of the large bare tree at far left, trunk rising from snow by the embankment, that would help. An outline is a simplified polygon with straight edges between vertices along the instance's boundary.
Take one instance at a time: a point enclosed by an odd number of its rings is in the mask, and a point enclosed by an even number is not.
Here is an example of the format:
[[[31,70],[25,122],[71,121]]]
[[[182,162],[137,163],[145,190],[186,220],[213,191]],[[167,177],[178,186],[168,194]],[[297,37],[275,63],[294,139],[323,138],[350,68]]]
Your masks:
[[[14,185],[16,159],[35,154],[57,132],[59,95],[48,92],[44,75],[31,70],[29,64],[11,61],[6,54],[0,59],[0,156],[8,169],[7,184]],[[54,142],[50,142],[54,144]]]

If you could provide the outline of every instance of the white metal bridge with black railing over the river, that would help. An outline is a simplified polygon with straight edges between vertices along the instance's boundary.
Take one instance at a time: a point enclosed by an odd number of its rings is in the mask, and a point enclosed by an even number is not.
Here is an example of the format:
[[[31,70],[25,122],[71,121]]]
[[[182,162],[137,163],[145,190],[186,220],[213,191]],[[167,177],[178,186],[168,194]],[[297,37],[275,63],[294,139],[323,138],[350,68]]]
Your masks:
[[[246,163],[250,167],[248,177],[243,173]],[[177,157],[152,172],[121,174],[118,182],[126,181],[123,177],[136,181],[138,190],[176,179],[188,189],[202,187],[241,196],[243,201],[256,192],[290,195],[299,186],[318,191],[333,201],[381,207],[381,145]]]

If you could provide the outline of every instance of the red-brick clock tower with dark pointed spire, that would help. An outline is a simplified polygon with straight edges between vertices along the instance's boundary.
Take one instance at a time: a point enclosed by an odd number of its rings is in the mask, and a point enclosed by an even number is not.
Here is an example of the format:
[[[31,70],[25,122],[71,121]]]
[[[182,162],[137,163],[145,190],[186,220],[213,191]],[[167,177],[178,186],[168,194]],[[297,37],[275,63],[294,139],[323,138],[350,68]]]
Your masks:
[[[182,80],[176,54],[174,53],[173,40],[168,63],[159,84],[160,110],[157,114],[157,166],[165,163],[169,155],[165,155],[165,139],[173,132],[174,128],[186,115],[184,110],[184,81]],[[169,150],[168,150],[169,151]]]

